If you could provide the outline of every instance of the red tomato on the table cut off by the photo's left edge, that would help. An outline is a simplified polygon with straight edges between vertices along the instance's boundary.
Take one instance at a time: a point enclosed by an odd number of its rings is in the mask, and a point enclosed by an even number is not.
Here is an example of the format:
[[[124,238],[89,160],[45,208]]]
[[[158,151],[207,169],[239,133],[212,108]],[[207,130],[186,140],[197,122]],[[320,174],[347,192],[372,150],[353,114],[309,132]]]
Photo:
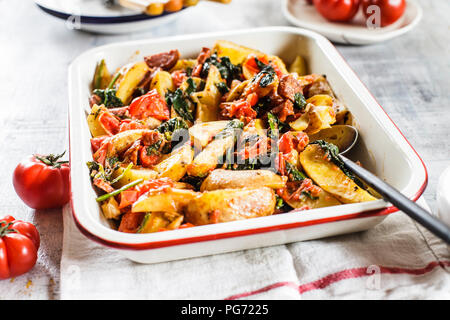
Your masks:
[[[0,219],[0,279],[17,277],[33,268],[39,245],[34,225],[11,216]]]

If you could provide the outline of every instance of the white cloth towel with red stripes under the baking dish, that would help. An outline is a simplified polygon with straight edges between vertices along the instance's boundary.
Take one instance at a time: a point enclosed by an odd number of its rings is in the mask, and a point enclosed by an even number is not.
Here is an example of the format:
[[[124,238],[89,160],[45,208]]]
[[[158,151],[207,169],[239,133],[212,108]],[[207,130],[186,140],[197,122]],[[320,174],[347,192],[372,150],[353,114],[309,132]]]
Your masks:
[[[145,265],[84,237],[70,210],[61,299],[450,299],[450,247],[400,212],[364,232]]]

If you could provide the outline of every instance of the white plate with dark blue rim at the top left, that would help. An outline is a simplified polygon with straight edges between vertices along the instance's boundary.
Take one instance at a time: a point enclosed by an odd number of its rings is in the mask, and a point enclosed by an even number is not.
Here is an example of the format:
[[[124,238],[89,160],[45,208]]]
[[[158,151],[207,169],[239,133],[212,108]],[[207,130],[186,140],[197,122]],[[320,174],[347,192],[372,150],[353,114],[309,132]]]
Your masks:
[[[35,0],[35,3],[44,12],[64,20],[70,29],[106,34],[148,30],[168,23],[191,9],[183,8],[152,17],[119,5],[108,8],[102,0]]]

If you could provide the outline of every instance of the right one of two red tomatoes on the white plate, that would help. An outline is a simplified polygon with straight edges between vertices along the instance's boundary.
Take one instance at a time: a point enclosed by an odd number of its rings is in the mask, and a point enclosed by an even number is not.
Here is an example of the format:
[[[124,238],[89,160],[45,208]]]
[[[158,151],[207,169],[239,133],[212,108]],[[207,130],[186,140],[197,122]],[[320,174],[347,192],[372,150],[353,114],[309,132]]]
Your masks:
[[[380,26],[385,27],[400,19],[406,9],[405,0],[361,0],[361,7],[366,18],[369,18],[374,12],[369,10],[369,6],[378,6],[380,8]]]

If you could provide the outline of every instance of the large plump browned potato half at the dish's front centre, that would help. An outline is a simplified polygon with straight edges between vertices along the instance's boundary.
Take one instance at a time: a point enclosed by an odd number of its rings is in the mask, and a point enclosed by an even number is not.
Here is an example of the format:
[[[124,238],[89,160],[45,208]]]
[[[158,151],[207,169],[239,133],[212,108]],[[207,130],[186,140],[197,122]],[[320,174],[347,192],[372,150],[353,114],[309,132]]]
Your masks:
[[[204,225],[269,216],[275,202],[275,192],[267,187],[205,191],[187,204],[185,218]]]

